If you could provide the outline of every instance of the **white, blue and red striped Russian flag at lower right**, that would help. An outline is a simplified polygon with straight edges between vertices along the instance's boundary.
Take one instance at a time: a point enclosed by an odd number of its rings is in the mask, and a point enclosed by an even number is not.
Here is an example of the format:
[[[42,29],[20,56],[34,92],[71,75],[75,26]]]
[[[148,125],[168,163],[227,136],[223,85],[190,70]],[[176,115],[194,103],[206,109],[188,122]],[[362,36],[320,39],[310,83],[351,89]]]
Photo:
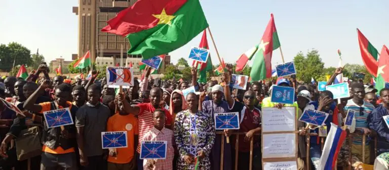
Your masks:
[[[320,157],[318,170],[332,170],[336,165],[338,153],[346,139],[346,131],[331,123],[322,156]]]

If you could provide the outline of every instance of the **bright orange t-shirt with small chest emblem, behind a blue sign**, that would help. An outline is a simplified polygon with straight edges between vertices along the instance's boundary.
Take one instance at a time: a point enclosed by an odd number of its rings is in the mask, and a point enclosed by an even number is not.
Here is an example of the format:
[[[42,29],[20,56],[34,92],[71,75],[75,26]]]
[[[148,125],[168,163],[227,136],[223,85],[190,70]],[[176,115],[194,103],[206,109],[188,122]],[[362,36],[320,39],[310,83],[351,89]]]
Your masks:
[[[127,148],[116,148],[116,157],[108,156],[108,162],[128,163],[134,157],[135,135],[138,135],[138,119],[134,115],[115,114],[108,119],[107,132],[127,131]]]

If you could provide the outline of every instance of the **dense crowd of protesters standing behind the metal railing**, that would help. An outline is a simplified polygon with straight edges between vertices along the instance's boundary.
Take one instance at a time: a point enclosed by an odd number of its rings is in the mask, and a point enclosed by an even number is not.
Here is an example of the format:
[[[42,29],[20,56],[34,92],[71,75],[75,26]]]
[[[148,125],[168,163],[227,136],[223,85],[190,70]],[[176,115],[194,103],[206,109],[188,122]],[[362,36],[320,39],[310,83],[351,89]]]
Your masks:
[[[50,78],[44,65],[26,80],[11,76],[1,79],[0,97],[16,105],[24,116],[0,103],[0,169],[230,170],[236,167],[236,152],[239,170],[248,170],[250,159],[252,169],[262,169],[261,108],[285,106],[296,107],[299,115],[307,109],[328,113],[327,132],[331,123],[343,126],[347,110],[354,110],[355,127],[347,129],[347,133],[353,134],[351,146],[348,141],[344,142],[338,155],[338,169],[348,169],[348,166],[364,169],[364,163],[374,164],[378,170],[389,167],[389,128],[382,118],[389,115],[389,89],[378,92],[369,84],[349,81],[351,97],[342,98],[338,103],[330,91],[319,92],[316,83],[299,82],[295,77],[251,82],[246,90],[232,89],[234,82],[231,82],[229,65],[221,81],[207,83],[197,82],[194,67],[191,82],[152,79],[150,70],[146,69],[142,80],[135,78],[133,86],[123,91],[109,88],[105,78],[96,80],[98,72],[93,72],[89,80]],[[327,84],[332,84],[341,73],[342,68],[336,69]],[[271,102],[271,89],[275,85],[294,87],[295,102]],[[196,92],[184,96],[182,90],[191,86]],[[48,128],[43,112],[60,108],[69,108],[74,124]],[[215,130],[214,114],[226,112],[239,112],[239,130]],[[28,152],[22,159],[20,150],[30,151],[27,148],[32,145],[20,139],[31,128],[42,136],[40,152]],[[305,135],[319,133],[320,127],[299,122],[298,128],[298,169],[307,166],[317,169],[322,154],[320,138],[310,136],[310,148],[306,148]],[[115,131],[127,132],[128,146],[102,149],[101,132]],[[238,132],[236,145],[234,138]],[[363,134],[367,135],[365,142]],[[223,148],[222,139],[226,138],[222,135],[232,141],[224,141]],[[253,148],[250,148],[251,140]],[[140,159],[142,141],[167,141],[166,159]],[[352,148],[351,154],[348,147]],[[309,149],[310,162],[306,162],[306,149]],[[348,162],[350,155],[352,162]]]

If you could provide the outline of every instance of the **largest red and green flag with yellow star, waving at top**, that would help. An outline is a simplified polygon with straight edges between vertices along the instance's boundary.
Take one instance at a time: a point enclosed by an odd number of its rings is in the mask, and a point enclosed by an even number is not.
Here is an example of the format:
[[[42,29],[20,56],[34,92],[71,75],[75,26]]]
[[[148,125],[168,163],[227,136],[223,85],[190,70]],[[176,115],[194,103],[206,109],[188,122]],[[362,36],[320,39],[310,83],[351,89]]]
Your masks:
[[[130,41],[143,59],[171,52],[208,27],[199,0],[139,0],[107,21],[101,31]]]

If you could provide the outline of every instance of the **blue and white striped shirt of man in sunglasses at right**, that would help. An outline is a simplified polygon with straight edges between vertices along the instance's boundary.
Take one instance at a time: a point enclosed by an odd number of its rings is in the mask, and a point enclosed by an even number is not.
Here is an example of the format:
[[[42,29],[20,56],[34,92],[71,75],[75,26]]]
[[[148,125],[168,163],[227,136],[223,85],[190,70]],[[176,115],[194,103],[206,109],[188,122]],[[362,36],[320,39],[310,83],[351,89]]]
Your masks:
[[[361,112],[362,108],[362,112]],[[374,110],[373,104],[363,101],[363,104],[361,106],[357,105],[354,103],[353,99],[350,99],[347,101],[346,106],[344,107],[345,111],[348,111],[348,109],[352,109],[355,111],[355,120],[356,120],[356,125],[355,129],[356,131],[362,130],[362,128],[369,128],[368,123],[367,123],[367,117],[371,114],[371,112]],[[366,145],[369,144],[368,138],[366,138]],[[357,145],[362,145],[362,135],[355,133],[353,134],[353,144]]]

